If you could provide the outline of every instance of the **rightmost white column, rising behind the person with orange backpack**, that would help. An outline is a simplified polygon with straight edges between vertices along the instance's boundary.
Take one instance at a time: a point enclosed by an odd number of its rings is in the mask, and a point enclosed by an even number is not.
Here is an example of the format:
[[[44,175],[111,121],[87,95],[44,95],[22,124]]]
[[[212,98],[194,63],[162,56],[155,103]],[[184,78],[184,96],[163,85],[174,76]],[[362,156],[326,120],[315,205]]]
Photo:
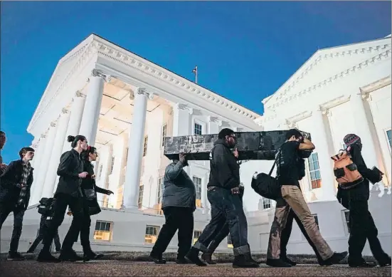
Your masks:
[[[378,152],[375,147],[376,144],[378,145],[378,142],[375,142],[371,135],[372,130],[369,124],[369,119],[366,115],[364,100],[361,93],[355,93],[351,95],[350,104],[352,107],[351,112],[354,113],[356,135],[361,137],[361,142],[363,145],[361,151],[362,157],[364,157],[367,167],[371,168],[376,166],[381,169],[377,159]],[[386,120],[390,120],[390,118],[386,118]],[[373,124],[373,122],[371,124]]]

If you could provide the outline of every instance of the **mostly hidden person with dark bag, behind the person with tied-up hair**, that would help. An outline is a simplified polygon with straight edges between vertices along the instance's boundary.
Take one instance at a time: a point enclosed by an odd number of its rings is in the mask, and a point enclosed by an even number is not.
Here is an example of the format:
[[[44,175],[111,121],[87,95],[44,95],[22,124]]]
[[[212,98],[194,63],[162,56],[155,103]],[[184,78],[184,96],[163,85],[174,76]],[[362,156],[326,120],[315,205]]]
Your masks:
[[[33,244],[31,244],[27,253],[34,253],[34,250],[36,250],[38,244],[43,240],[43,236],[46,230],[48,230],[49,222],[51,221],[53,216],[53,209],[51,209],[52,204],[53,204],[53,198],[49,198],[49,199],[43,198],[40,200],[40,205],[38,206],[38,213],[41,214],[41,221],[39,224],[38,236],[33,241]],[[41,206],[43,206],[43,209],[40,209]],[[60,252],[61,244],[60,244],[60,238],[58,236],[58,230],[56,230],[55,232],[54,242],[55,242],[55,251]]]

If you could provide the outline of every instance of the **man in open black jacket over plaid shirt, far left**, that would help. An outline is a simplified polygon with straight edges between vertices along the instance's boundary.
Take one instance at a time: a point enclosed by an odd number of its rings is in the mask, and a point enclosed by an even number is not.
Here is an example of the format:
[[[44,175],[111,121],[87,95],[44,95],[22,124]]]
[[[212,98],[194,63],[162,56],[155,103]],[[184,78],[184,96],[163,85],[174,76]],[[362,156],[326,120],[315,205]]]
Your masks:
[[[23,147],[19,151],[20,160],[12,161],[0,177],[0,230],[7,216],[14,213],[14,230],[9,244],[8,260],[21,261],[24,257],[18,253],[19,239],[22,234],[23,216],[30,200],[31,184],[33,184],[34,150]]]

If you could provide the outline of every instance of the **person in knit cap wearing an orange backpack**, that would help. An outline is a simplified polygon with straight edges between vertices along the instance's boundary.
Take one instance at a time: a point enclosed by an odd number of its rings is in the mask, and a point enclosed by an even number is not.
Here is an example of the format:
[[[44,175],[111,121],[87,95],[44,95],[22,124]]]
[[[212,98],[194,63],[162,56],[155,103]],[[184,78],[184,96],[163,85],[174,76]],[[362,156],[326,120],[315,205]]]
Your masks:
[[[339,183],[337,199],[349,209],[349,266],[374,267],[362,258],[362,251],[369,241],[371,253],[379,266],[391,266],[391,257],[383,251],[378,240],[378,230],[368,206],[370,197],[369,182],[381,182],[382,173],[366,166],[361,155],[361,138],[355,134],[344,137],[346,150],[332,157],[334,174]]]

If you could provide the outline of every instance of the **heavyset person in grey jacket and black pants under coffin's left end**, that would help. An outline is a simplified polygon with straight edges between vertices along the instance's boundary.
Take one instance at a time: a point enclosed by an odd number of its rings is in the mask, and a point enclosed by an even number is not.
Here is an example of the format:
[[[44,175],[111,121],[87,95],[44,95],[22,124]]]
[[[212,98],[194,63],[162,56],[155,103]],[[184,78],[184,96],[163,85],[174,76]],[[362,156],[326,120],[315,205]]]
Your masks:
[[[159,231],[158,239],[152,248],[150,258],[154,263],[166,263],[162,254],[178,230],[179,250],[176,263],[189,263],[185,255],[191,249],[194,233],[194,211],[196,210],[196,188],[194,182],[184,171],[188,166],[186,155],[179,154],[165,169],[162,210],[165,224]]]

